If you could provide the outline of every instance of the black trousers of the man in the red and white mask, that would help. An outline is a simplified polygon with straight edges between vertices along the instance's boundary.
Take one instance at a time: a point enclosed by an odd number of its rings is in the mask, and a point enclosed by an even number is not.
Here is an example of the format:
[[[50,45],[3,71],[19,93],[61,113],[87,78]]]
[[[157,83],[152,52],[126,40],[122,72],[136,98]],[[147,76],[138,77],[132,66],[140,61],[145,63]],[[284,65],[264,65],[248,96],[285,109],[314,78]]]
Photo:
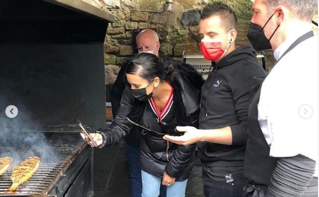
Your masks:
[[[206,197],[243,197],[247,181],[243,179],[234,180],[231,183],[226,181],[215,181],[210,179],[203,171],[204,195]]]

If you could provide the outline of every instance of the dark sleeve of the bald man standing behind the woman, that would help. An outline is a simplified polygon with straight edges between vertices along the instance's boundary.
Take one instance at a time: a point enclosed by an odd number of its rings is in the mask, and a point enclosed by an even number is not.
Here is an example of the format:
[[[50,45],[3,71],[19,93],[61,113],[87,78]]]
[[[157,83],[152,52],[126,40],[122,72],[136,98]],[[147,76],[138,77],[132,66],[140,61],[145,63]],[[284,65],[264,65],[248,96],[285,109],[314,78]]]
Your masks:
[[[122,94],[126,86],[126,77],[125,77],[126,65],[127,65],[126,63],[122,65],[111,89],[111,103],[112,103],[113,118],[115,118],[118,112],[118,109],[120,107],[120,102],[122,99]]]

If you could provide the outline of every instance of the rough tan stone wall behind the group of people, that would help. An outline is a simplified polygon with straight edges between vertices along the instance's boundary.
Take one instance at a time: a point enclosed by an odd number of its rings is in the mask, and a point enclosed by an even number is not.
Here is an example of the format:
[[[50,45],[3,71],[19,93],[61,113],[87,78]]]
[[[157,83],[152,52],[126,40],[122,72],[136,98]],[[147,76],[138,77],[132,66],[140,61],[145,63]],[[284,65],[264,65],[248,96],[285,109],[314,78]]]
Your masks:
[[[85,0],[95,2],[101,9],[110,10],[116,17],[110,23],[104,42],[105,65],[121,65],[134,55],[133,30],[156,29],[160,37],[160,54],[181,59],[182,54],[200,54],[198,41],[188,32],[189,18],[199,19],[200,10],[218,0],[173,0],[172,10],[165,11],[165,0]],[[251,16],[251,1],[224,0],[232,7],[239,20],[237,45],[249,45],[246,33]],[[316,14],[317,19],[317,14]],[[190,29],[197,34],[196,24]],[[273,65],[272,52],[267,52],[267,68]],[[107,69],[107,68],[105,68]]]

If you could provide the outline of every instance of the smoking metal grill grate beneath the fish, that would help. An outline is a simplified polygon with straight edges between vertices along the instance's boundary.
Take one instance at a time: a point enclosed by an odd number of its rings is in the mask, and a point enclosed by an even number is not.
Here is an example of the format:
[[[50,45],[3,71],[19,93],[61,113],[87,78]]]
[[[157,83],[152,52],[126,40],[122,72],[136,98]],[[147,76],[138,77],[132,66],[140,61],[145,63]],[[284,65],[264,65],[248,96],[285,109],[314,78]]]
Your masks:
[[[86,143],[79,136],[79,133],[46,133],[48,144],[53,147],[56,157],[50,162],[40,163],[36,173],[24,184],[18,187],[15,194],[3,192],[12,184],[10,176],[12,166],[0,177],[0,196],[42,196],[53,187],[56,181],[62,176],[63,172],[70,166],[74,158],[86,146]],[[2,150],[8,150],[8,147],[0,147]],[[27,148],[17,148],[20,154],[23,154]],[[10,152],[9,152],[10,156]],[[35,156],[39,156],[35,152]]]

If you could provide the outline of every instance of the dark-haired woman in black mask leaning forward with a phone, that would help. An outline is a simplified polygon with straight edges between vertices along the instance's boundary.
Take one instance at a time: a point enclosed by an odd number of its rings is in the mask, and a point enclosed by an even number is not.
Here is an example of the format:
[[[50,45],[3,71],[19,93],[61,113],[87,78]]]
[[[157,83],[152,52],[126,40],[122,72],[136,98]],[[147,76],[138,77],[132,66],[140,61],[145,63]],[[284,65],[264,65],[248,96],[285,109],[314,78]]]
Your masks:
[[[142,196],[185,196],[195,159],[195,144],[182,146],[165,141],[164,135],[181,135],[177,125],[198,127],[202,76],[190,65],[153,54],[137,55],[126,68],[127,86],[113,123],[93,134],[103,147],[118,143],[133,125],[140,126]],[[88,141],[93,146],[92,142]]]

